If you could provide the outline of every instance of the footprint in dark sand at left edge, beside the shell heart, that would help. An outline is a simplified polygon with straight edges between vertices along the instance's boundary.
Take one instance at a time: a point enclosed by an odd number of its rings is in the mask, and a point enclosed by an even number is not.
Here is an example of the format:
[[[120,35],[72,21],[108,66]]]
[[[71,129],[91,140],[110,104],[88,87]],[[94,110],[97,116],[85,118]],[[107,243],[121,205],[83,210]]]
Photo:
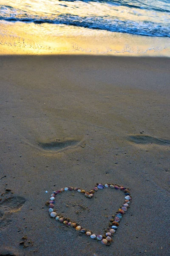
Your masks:
[[[26,199],[21,196],[11,196],[0,201],[0,228],[11,223],[11,214],[20,211],[25,202]]]

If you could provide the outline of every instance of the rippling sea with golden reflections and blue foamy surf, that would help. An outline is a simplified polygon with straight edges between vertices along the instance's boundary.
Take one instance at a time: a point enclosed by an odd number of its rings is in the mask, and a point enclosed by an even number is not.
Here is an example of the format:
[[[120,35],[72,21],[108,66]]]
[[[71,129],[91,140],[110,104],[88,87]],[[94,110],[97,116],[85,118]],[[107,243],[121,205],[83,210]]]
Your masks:
[[[97,0],[43,0],[41,6],[35,0],[30,1],[32,5],[29,6],[26,0],[21,1],[20,5],[10,6],[10,1],[6,0],[6,5],[0,5],[0,20],[65,24],[111,32],[170,37],[170,15],[167,12],[160,15],[156,11],[119,6],[122,3],[131,3],[131,6],[137,3],[140,6],[143,2],[141,8],[144,8],[144,4],[148,5],[151,0],[102,0],[102,3]],[[166,1],[162,0],[161,3]],[[158,4],[160,1],[155,2]],[[110,6],[113,3],[117,6]]]

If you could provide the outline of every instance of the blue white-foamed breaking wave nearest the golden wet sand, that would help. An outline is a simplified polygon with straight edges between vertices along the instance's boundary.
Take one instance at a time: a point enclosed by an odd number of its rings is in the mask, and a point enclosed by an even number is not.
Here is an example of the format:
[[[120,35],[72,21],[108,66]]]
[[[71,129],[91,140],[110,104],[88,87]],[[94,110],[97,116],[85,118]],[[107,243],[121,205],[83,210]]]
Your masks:
[[[1,19],[1,17],[0,17]],[[74,15],[58,15],[57,19],[32,19],[28,17],[6,17],[8,21],[22,21],[34,23],[55,23],[73,26],[81,26],[90,29],[105,29],[111,32],[130,33],[135,35],[170,37],[170,26],[161,26],[152,22],[136,23],[131,20],[111,20],[107,17],[82,17]],[[101,22],[102,21],[102,22]]]

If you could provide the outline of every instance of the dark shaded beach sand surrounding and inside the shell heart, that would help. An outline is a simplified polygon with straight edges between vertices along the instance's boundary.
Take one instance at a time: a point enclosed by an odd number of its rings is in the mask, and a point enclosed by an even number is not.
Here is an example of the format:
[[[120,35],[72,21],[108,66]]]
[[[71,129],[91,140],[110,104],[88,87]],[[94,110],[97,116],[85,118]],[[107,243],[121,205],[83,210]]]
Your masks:
[[[169,58],[0,57],[0,255],[168,255],[169,67]],[[56,189],[96,183],[132,195],[110,246],[45,206]],[[65,192],[56,207],[100,233],[123,198]]]

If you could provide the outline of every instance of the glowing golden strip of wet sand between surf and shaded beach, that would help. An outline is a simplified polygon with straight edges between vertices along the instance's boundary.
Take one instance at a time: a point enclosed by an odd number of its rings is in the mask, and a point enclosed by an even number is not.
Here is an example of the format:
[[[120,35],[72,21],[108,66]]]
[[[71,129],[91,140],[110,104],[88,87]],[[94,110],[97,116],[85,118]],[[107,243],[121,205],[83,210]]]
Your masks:
[[[0,21],[0,55],[115,55],[170,57],[170,38],[56,24]],[[34,34],[33,34],[34,33]]]

